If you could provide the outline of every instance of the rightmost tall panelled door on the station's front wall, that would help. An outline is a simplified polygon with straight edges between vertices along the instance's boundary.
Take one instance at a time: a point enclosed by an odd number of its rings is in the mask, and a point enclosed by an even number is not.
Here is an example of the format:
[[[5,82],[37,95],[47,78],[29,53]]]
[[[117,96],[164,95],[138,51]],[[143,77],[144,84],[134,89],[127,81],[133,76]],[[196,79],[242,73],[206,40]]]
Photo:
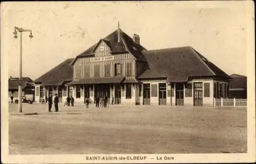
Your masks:
[[[203,83],[194,83],[194,106],[203,106]]]

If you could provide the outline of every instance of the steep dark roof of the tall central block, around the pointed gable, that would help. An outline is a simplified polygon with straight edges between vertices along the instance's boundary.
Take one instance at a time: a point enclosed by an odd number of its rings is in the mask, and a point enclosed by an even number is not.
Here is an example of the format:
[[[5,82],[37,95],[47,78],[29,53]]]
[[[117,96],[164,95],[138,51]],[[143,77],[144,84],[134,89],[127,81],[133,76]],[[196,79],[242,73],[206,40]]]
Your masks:
[[[110,35],[106,36],[103,39],[100,39],[100,41],[104,41],[111,49],[112,53],[117,53],[117,52],[130,52],[134,56],[136,60],[142,60],[145,61],[145,58],[143,57],[143,54],[141,51],[146,50],[143,46],[140,44],[137,44],[133,41],[131,37],[129,37],[127,34],[121,31],[121,42],[118,42],[118,35],[117,35],[117,30],[111,33]],[[99,42],[100,42],[99,41]],[[93,56],[93,50],[94,48],[99,44],[97,42],[87,50],[83,51],[81,54],[79,54],[72,64],[75,62],[75,60],[79,57],[90,57]]]

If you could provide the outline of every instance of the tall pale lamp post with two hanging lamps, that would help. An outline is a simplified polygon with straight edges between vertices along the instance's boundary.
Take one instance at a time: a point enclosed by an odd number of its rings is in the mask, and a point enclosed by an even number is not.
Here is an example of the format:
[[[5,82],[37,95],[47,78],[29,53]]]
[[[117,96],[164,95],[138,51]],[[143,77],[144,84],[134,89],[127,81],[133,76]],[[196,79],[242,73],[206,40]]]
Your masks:
[[[32,30],[17,28],[14,27],[14,38],[17,39],[17,31],[20,34],[20,56],[19,56],[19,84],[18,84],[18,113],[22,113],[22,84],[20,81],[22,80],[22,33],[23,32],[30,32],[29,38],[32,39]]]

